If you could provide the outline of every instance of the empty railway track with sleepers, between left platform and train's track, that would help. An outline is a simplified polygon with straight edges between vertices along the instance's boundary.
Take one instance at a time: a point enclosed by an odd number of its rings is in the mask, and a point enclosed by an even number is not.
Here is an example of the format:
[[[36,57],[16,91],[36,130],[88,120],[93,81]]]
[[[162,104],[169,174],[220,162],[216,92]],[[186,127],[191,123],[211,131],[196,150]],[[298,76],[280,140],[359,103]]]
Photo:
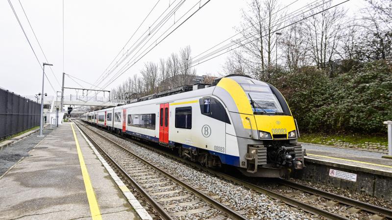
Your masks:
[[[244,216],[84,126],[77,126],[162,219],[246,220]]]

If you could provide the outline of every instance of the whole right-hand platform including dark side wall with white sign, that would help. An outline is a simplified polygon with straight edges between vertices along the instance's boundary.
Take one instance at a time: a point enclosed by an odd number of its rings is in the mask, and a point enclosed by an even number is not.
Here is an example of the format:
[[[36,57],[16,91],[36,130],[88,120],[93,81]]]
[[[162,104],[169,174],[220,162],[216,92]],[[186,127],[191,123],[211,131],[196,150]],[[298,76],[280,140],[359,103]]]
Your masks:
[[[392,200],[392,160],[382,153],[301,143],[303,180]]]

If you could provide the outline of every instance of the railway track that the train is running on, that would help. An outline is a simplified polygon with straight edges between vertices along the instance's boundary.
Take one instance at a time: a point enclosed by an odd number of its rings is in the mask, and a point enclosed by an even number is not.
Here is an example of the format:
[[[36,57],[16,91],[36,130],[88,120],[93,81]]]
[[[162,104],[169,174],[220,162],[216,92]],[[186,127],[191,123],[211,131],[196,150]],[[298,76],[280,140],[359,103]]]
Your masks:
[[[116,135],[117,137],[123,138],[121,136]],[[325,192],[316,188],[308,187],[305,185],[300,185],[297,183],[294,183],[292,181],[284,180],[284,179],[279,179],[277,183],[280,185],[281,189],[285,188],[291,188],[290,193],[279,193],[276,192],[272,189],[269,189],[267,187],[262,187],[256,183],[252,183],[251,181],[245,181],[239,178],[236,178],[234,176],[229,176],[227,174],[211,170],[211,169],[206,169],[197,163],[188,161],[186,159],[183,159],[179,156],[169,154],[166,151],[153,148],[147,144],[141,143],[141,142],[134,142],[135,144],[145,147],[149,150],[152,150],[154,152],[157,152],[159,154],[163,154],[167,157],[173,158],[175,160],[181,161],[182,163],[188,164],[192,167],[195,167],[197,169],[201,169],[205,172],[208,172],[212,175],[219,176],[223,179],[232,181],[236,184],[242,185],[248,189],[252,189],[258,193],[262,193],[265,195],[270,196],[271,198],[276,199],[279,202],[283,202],[288,204],[289,206],[292,206],[297,209],[302,209],[305,212],[312,213],[315,215],[319,215],[320,217],[323,217],[325,219],[332,219],[332,220],[346,220],[349,219],[349,215],[358,213],[361,211],[366,211],[368,213],[373,214],[372,216],[369,217],[369,219],[374,219],[374,220],[381,220],[384,218],[390,218],[392,219],[392,211],[383,207],[375,206],[372,204],[368,204],[359,200],[354,200],[351,198],[346,198],[340,195],[332,194],[329,192]],[[299,194],[307,194],[308,196],[302,199],[295,198],[296,195]],[[316,205],[312,201],[317,200],[319,198],[322,198],[326,200],[325,204],[323,205]],[[350,210],[350,213],[332,213],[329,211],[326,207],[334,206],[334,205],[345,205],[348,206],[347,210]]]

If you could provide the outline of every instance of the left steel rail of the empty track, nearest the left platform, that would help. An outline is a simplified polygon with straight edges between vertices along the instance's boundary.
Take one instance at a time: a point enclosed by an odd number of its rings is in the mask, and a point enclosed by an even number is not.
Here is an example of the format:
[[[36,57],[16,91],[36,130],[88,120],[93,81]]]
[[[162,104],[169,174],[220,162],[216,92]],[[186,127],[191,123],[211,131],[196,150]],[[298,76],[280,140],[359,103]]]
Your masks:
[[[80,123],[80,122],[79,122]],[[76,125],[76,123],[75,123]],[[129,182],[132,184],[132,186],[142,195],[143,198],[145,198],[148,202],[148,204],[151,205],[151,207],[160,215],[160,217],[162,219],[165,220],[173,220],[172,216],[170,216],[170,214],[168,212],[166,212],[166,210],[159,205],[154,198],[152,198],[150,195],[148,195],[148,193],[143,189],[143,187],[141,187],[134,178],[132,178],[132,176],[129,176],[126,171],[123,170],[123,168],[109,155],[106,153],[105,150],[103,150],[101,147],[99,147],[99,145],[97,144],[97,142],[94,141],[94,139],[92,137],[90,137],[90,135],[88,135],[82,128],[80,128],[80,126],[76,125],[77,127],[79,127],[80,131],[82,131],[88,138],[89,140],[96,146],[98,147],[98,149],[103,152],[103,154],[105,154],[105,156],[107,158],[109,158],[110,162],[112,162],[113,164],[115,164],[116,168],[118,170],[121,171],[121,173],[123,174],[123,176],[125,176]],[[87,128],[86,126],[82,125],[83,127]],[[92,131],[91,129],[89,129],[90,131]]]

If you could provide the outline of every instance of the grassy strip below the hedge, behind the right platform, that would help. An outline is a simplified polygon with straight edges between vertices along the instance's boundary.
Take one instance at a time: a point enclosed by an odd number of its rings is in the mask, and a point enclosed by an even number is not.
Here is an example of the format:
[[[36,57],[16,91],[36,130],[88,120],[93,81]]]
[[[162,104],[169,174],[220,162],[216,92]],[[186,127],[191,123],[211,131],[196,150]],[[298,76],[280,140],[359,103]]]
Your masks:
[[[351,144],[375,144],[388,145],[388,137],[385,135],[365,135],[365,134],[319,134],[319,133],[301,133],[298,141],[311,144],[325,144],[327,141],[348,142]]]

